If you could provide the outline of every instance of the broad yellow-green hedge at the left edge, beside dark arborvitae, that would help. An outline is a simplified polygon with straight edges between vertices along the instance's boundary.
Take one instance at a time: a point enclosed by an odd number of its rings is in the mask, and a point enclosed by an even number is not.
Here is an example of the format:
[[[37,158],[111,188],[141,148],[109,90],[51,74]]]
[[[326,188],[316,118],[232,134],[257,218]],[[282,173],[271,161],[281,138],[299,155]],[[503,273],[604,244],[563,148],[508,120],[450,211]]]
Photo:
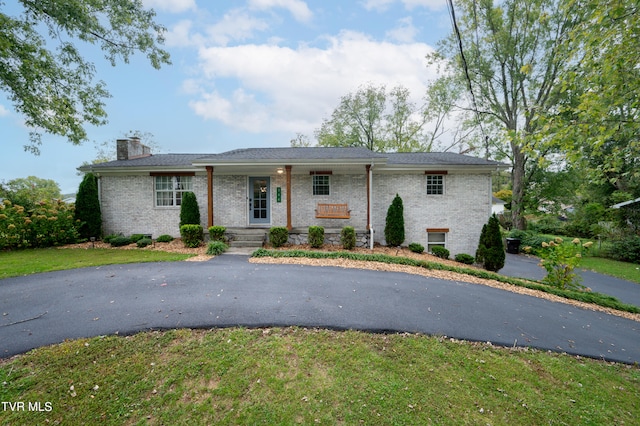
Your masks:
[[[78,225],[73,205],[60,200],[41,201],[32,211],[4,200],[0,203],[0,250],[75,243]]]

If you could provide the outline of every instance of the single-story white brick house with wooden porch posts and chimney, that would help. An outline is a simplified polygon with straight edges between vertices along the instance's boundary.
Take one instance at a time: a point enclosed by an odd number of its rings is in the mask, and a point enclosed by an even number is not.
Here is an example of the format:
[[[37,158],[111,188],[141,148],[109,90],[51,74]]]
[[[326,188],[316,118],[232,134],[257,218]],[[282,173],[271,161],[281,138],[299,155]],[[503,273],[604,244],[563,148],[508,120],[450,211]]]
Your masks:
[[[492,208],[491,172],[504,164],[453,153],[375,153],[365,148],[248,148],[151,155],[118,140],[118,159],[80,167],[99,178],[105,234],[179,235],[182,194],[196,194],[202,225],[310,225],[384,244],[387,209],[404,203],[405,243],[475,253]],[[373,241],[370,237],[373,236]],[[292,241],[298,241],[295,238]]]

